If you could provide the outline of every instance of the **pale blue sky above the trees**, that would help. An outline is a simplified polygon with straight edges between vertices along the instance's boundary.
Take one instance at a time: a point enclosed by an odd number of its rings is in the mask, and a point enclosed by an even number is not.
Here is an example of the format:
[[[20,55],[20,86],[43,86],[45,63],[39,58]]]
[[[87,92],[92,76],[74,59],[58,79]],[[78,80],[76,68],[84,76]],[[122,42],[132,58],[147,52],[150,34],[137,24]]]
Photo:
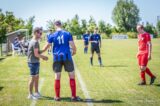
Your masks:
[[[140,9],[141,22],[156,25],[160,16],[160,0],[134,0]],[[27,20],[35,16],[35,26],[47,28],[48,20],[72,19],[78,14],[80,19],[89,20],[90,16],[98,22],[104,20],[114,25],[112,10],[117,0],[0,0],[2,11],[12,11],[15,16]]]

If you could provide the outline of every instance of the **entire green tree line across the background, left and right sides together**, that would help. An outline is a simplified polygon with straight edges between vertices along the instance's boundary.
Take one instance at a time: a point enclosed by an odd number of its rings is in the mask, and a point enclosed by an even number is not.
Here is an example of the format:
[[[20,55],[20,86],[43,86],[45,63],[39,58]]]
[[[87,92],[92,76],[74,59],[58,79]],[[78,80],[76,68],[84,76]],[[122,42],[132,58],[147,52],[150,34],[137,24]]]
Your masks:
[[[127,34],[130,38],[136,38],[136,25],[141,21],[139,16],[139,8],[133,0],[118,0],[112,11],[112,20],[115,26],[107,23],[105,20],[96,22],[94,17],[90,16],[89,20],[80,19],[76,14],[72,19],[68,19],[63,23],[63,28],[70,31],[73,35],[82,35],[86,30],[91,33],[96,27],[99,28],[99,33],[105,38],[110,38],[113,34]],[[6,33],[26,28],[29,29],[29,35],[32,33],[35,17],[31,16],[27,20],[17,18],[13,12],[3,12],[0,9],[0,43],[6,39]],[[54,19],[47,22],[48,30],[54,30]],[[145,30],[157,37],[160,35],[160,20],[154,26],[149,22],[143,23]]]

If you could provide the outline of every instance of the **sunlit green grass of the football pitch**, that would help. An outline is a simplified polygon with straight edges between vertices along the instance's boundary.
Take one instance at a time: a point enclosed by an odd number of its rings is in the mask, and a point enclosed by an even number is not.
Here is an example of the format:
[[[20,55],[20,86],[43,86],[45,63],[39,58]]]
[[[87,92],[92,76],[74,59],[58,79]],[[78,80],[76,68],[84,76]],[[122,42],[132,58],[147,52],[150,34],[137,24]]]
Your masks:
[[[83,54],[83,42],[76,41],[78,48],[74,61],[86,85],[94,106],[159,106],[160,104],[160,39],[153,40],[153,56],[150,69],[157,76],[154,85],[138,86],[139,69],[135,58],[137,40],[103,40],[102,61],[104,67],[98,66],[94,56],[94,66],[89,65],[89,54]],[[87,106],[87,103],[70,102],[68,75],[63,71],[61,80],[61,102],[53,101],[54,73],[52,57],[41,63],[40,81],[43,99],[37,106]],[[0,59],[0,106],[29,106],[27,99],[29,70],[26,57],[16,56]],[[149,77],[147,76],[149,83]],[[82,88],[77,79],[77,94],[83,98]]]

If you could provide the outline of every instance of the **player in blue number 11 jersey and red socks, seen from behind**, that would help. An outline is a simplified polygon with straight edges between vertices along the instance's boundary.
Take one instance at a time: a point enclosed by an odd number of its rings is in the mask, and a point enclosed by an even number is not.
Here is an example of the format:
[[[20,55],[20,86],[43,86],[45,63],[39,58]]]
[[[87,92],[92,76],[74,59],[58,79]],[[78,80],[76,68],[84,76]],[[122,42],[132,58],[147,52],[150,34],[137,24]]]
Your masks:
[[[80,101],[81,99],[76,96],[76,81],[75,81],[75,71],[72,56],[76,54],[76,46],[74,44],[72,35],[63,30],[62,24],[60,21],[55,22],[56,32],[52,34],[48,43],[43,49],[43,52],[46,51],[53,44],[53,70],[55,72],[55,100],[60,101],[60,79],[62,67],[66,72],[68,72],[70,78],[70,87],[71,87],[71,101]],[[70,46],[72,47],[73,52],[70,51]]]

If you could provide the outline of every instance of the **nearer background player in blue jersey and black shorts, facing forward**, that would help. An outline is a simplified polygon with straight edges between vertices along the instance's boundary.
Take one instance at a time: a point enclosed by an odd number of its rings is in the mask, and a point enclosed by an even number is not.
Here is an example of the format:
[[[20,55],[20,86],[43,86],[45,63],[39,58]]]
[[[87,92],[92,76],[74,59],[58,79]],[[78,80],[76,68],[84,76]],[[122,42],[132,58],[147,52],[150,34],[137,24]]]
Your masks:
[[[98,55],[98,62],[99,65],[102,66],[102,59],[100,54],[100,48],[101,48],[101,36],[98,34],[98,28],[94,30],[94,33],[90,37],[91,42],[91,57],[90,57],[90,64],[93,65],[93,55],[94,52]]]

